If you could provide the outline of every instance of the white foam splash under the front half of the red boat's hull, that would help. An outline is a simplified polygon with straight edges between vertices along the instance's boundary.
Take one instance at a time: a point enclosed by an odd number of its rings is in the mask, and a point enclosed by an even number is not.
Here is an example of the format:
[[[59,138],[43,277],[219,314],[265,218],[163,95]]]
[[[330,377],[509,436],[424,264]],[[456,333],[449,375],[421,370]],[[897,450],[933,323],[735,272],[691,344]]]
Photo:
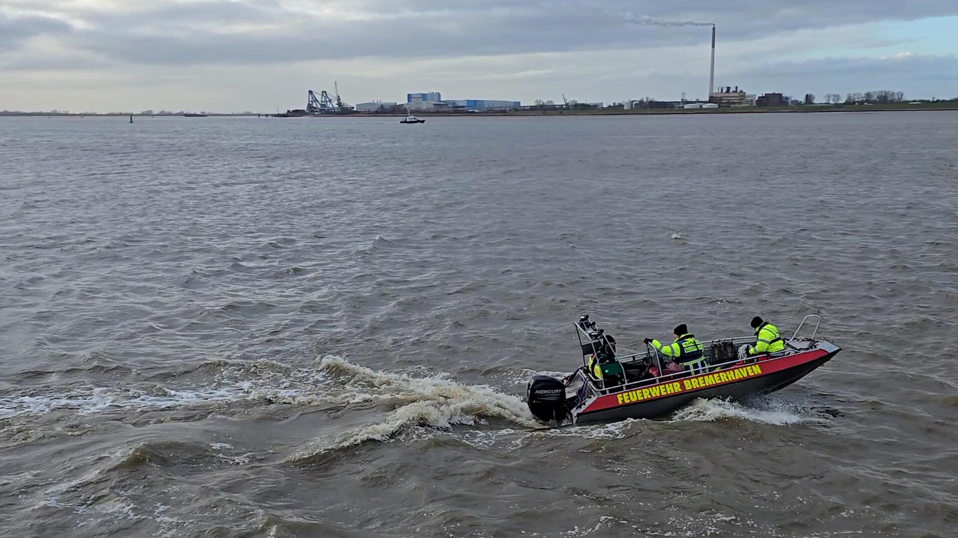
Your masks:
[[[745,405],[740,402],[730,402],[717,399],[698,398],[691,404],[675,412],[672,422],[678,421],[705,421],[716,420],[749,420],[764,422],[778,426],[797,424],[821,420],[820,416],[813,415],[794,404],[778,400],[757,400],[756,405]],[[804,413],[803,413],[804,412]]]

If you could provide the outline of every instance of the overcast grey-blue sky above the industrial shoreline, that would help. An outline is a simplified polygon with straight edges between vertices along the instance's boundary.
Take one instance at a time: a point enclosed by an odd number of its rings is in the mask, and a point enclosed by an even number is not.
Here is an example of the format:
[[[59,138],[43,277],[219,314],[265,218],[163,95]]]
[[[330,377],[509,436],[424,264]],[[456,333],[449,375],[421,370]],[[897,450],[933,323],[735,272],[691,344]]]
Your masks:
[[[462,5],[462,7],[460,7]],[[958,96],[956,0],[3,0],[0,109],[275,111],[343,99]]]

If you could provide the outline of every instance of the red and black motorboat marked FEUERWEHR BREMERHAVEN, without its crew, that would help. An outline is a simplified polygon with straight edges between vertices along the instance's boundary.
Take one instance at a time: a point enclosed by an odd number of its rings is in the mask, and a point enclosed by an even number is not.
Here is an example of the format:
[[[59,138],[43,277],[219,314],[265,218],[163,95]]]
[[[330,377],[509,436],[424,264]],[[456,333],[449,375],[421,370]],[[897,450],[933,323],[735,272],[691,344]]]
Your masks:
[[[799,337],[810,318],[816,319],[810,337]],[[810,314],[781,351],[746,356],[744,347],[755,344],[754,336],[712,340],[702,343],[707,366],[690,371],[648,345],[644,353],[616,354],[615,338],[587,315],[575,325],[582,367],[563,379],[536,375],[526,390],[529,411],[543,422],[589,424],[656,418],[670,415],[696,398],[740,400],[767,394],[805,377],[841,350],[815,339],[821,318]],[[590,362],[600,365],[602,379],[590,371]]]

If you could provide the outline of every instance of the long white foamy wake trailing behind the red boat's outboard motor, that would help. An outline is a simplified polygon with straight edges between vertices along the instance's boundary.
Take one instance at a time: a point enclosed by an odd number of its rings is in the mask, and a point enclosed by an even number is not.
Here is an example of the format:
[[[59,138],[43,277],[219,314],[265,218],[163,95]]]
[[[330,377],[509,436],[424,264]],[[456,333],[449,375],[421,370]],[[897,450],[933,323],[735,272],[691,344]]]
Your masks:
[[[207,387],[173,389],[154,385],[124,390],[71,386],[55,393],[5,396],[0,398],[0,417],[44,414],[54,410],[76,410],[80,415],[118,410],[163,411],[239,401],[265,405],[385,406],[390,410],[388,415],[372,424],[356,427],[335,438],[316,439],[292,460],[313,458],[367,441],[392,440],[398,433],[415,428],[449,430],[454,425],[474,425],[484,422],[484,417],[503,418],[529,428],[539,426],[518,396],[485,385],[459,383],[445,373],[419,377],[372,370],[329,355],[318,358],[317,363],[318,369],[286,370],[282,375],[259,375],[257,371],[248,371],[251,368],[257,370],[259,366],[276,368],[272,364],[242,364],[239,372],[230,371],[232,367],[226,365],[223,376]],[[479,438],[469,440],[477,445],[494,442]],[[211,448],[221,450],[227,447],[217,444]],[[218,456],[237,464],[249,461],[248,455]]]

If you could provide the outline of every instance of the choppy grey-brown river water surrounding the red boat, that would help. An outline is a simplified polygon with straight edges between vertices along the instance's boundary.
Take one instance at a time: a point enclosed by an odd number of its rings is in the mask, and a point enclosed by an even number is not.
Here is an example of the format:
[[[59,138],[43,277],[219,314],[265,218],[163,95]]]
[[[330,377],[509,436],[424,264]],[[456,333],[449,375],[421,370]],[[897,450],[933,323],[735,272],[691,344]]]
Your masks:
[[[958,535],[954,113],[124,121],[0,121],[2,535]],[[536,429],[582,313],[844,350]]]

